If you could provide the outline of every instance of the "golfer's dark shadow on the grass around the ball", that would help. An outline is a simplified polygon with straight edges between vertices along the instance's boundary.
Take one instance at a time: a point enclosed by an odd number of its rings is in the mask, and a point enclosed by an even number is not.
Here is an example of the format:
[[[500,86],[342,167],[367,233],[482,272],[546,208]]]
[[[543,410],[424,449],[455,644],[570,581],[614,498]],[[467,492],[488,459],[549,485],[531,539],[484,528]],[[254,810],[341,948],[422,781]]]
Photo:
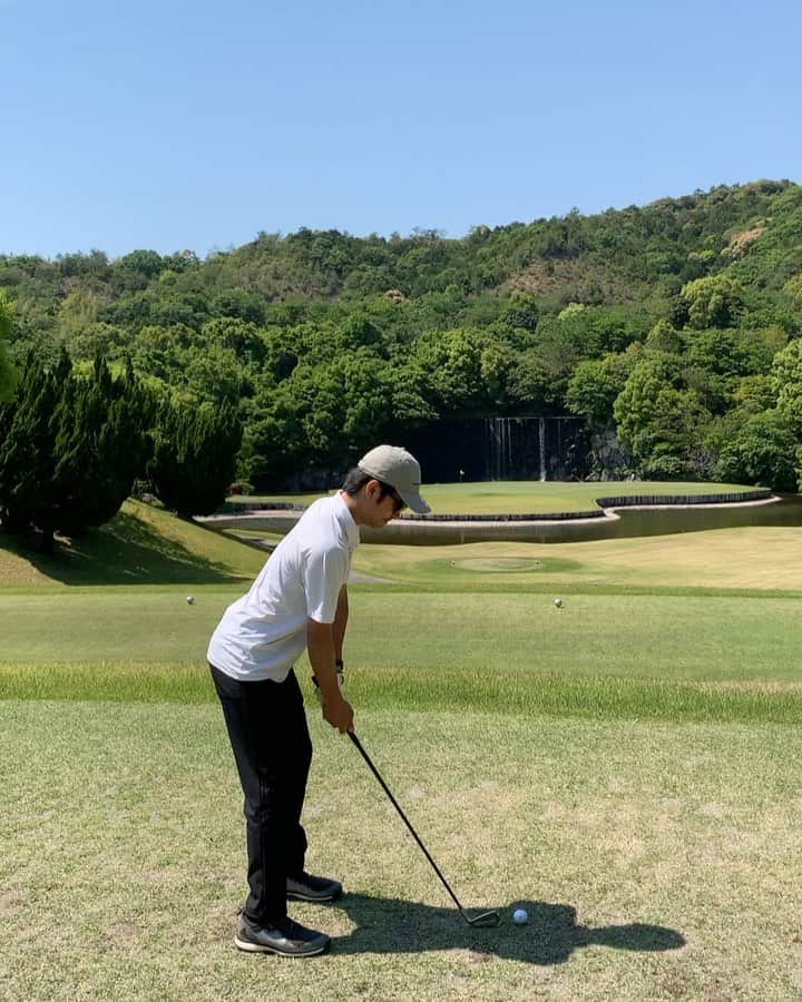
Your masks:
[[[579,925],[575,907],[542,901],[499,906],[501,922],[496,929],[473,929],[456,908],[398,898],[346,894],[333,907],[343,908],[356,926],[350,935],[333,940],[332,946],[340,954],[463,949],[470,951],[473,960],[496,956],[551,966],[565,963],[581,946],[661,953],[685,945],[684,936],[662,925]],[[527,925],[512,924],[515,908],[527,911]]]

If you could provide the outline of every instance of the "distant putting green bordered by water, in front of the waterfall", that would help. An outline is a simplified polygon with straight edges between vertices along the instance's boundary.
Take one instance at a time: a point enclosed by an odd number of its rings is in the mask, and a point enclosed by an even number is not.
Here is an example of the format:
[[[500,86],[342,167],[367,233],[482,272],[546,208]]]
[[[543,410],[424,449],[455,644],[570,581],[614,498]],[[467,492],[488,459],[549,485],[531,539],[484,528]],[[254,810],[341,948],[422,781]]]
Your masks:
[[[436,514],[535,514],[538,512],[593,511],[597,498],[681,494],[715,494],[754,490],[728,483],[674,483],[663,481],[498,481],[483,483],[428,483],[421,488]],[[311,504],[323,493],[258,494],[229,498],[231,502],[283,502]]]

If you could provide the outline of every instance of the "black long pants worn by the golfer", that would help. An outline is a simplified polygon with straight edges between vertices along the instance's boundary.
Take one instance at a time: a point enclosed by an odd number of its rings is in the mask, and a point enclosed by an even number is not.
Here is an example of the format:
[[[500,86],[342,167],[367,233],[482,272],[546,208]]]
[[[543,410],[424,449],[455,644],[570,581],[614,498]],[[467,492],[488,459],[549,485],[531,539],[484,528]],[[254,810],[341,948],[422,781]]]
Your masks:
[[[245,794],[245,916],[270,925],[286,915],[286,878],[302,873],[306,853],[301,808],[312,741],[301,687],[293,671],[283,682],[242,682],[209,667]]]

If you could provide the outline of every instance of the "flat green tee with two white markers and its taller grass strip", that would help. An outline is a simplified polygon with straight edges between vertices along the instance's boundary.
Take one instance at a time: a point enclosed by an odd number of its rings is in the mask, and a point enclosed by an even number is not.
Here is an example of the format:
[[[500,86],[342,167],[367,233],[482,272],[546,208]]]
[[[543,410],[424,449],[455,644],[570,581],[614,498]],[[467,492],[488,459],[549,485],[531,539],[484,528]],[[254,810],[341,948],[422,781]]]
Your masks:
[[[235,593],[9,595],[0,696],[212,699],[206,644]],[[802,719],[798,599],[575,595],[557,609],[539,593],[356,589],[351,605],[360,706]]]

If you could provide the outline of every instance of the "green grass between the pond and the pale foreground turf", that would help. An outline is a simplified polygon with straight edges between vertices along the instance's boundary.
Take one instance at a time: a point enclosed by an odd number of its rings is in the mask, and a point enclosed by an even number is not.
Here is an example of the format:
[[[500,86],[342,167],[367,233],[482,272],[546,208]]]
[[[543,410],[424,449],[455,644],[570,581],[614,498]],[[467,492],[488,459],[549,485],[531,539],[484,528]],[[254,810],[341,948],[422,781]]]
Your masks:
[[[111,547],[113,580],[134,563],[136,581],[163,583],[99,587]],[[266,554],[146,505],[129,505],[81,553],[67,554],[59,578],[4,589],[0,695],[211,698],[208,637]],[[180,569],[186,580],[170,583]],[[799,713],[795,529],[365,546],[354,569],[395,582],[352,588],[348,659],[366,707],[676,720]],[[77,583],[92,573],[97,584]]]

